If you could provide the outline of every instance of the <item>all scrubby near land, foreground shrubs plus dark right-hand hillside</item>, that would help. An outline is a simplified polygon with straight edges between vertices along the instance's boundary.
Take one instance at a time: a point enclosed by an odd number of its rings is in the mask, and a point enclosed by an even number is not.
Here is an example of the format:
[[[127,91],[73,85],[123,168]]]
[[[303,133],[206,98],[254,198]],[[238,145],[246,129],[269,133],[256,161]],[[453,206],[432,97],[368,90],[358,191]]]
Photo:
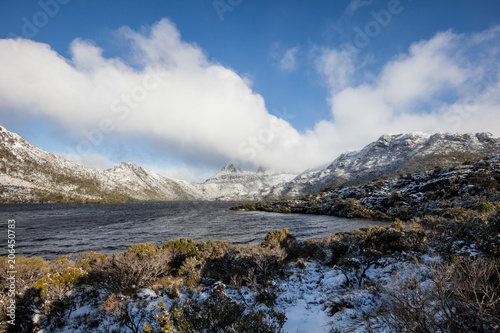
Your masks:
[[[304,311],[320,306],[331,332],[498,332],[495,163],[483,162],[482,171],[464,166],[380,181],[378,190],[377,182],[329,190],[298,202],[326,209],[326,200],[335,201],[332,193],[349,196],[338,199],[392,218],[389,227],[320,240],[298,241],[282,229],[258,245],[178,239],[131,245],[122,253],[17,258],[15,326],[7,324],[7,259],[1,258],[2,329],[282,332],[294,319],[287,316],[290,304],[304,297],[290,297],[289,289],[303,285],[306,293],[322,288]],[[406,190],[395,194],[403,181]],[[363,188],[372,188],[373,199],[362,197]]]

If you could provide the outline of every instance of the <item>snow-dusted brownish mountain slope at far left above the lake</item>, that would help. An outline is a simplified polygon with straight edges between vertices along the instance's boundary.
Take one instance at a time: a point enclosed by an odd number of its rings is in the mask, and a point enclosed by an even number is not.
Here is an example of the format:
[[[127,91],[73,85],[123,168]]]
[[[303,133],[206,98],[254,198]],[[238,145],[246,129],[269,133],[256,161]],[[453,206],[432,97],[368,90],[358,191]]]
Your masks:
[[[39,149],[0,126],[3,202],[115,202],[196,199],[179,181],[132,163],[86,168]]]

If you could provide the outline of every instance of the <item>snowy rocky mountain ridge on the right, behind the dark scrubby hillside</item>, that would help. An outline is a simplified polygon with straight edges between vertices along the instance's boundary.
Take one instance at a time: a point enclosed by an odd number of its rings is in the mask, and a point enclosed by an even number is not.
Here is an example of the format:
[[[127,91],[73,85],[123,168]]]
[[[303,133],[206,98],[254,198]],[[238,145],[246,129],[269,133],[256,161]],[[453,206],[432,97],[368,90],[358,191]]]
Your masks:
[[[344,153],[327,168],[305,172],[270,191],[271,198],[297,197],[375,178],[456,166],[500,154],[491,133],[382,135],[360,151]]]

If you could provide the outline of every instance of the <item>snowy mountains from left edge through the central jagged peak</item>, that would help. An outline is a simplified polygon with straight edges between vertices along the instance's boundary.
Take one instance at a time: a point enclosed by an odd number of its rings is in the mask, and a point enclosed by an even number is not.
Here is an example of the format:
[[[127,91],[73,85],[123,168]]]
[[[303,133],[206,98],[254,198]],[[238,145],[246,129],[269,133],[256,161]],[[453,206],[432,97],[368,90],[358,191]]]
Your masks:
[[[129,162],[108,170],[91,169],[39,149],[0,126],[0,203],[256,200],[264,189],[295,176],[228,165],[198,184]]]

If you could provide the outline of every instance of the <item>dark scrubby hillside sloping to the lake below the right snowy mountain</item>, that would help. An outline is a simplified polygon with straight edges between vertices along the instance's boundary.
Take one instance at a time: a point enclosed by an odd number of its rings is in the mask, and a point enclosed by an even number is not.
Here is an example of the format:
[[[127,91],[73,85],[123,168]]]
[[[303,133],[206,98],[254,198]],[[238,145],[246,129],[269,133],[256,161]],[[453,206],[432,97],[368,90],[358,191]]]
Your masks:
[[[493,209],[498,201],[500,157],[495,157],[473,164],[333,187],[297,199],[241,205],[233,209],[409,220],[427,215],[455,218],[470,209]]]

